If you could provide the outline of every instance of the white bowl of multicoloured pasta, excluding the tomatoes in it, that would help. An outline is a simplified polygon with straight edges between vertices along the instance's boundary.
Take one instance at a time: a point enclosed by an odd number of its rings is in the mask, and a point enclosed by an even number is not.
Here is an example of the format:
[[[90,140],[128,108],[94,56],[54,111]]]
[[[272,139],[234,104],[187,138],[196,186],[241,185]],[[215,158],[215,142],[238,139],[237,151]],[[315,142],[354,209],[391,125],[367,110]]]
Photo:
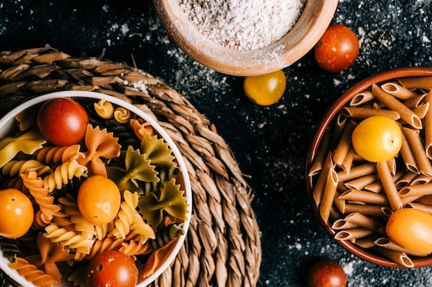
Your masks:
[[[77,145],[57,147],[30,132],[37,129],[37,109],[55,98],[72,98],[88,113],[86,136]],[[52,286],[58,271],[55,286],[85,286],[86,263],[108,250],[136,259],[137,286],[148,286],[184,243],[192,210],[186,165],[167,131],[135,105],[95,92],[37,96],[0,119],[0,154],[1,189],[22,190],[35,207],[26,235],[0,237],[0,268],[21,286]],[[119,186],[121,204],[114,220],[92,225],[76,193],[89,175],[101,173]]]

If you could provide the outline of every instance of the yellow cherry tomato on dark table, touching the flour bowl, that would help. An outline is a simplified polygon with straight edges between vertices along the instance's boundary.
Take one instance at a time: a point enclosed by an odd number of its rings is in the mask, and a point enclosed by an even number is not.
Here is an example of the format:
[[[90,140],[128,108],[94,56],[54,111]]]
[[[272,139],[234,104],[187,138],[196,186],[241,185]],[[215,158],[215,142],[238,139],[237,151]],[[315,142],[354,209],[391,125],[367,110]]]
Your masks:
[[[273,105],[285,92],[286,78],[284,71],[270,74],[248,76],[244,78],[244,93],[257,105]]]

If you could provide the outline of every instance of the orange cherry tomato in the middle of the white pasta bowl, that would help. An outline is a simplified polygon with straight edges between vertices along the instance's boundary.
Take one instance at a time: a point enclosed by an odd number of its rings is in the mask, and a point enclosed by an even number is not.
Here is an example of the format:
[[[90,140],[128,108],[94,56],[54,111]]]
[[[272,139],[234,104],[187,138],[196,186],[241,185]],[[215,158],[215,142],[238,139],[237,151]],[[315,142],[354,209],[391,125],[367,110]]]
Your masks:
[[[120,202],[117,184],[104,176],[90,176],[78,190],[78,209],[91,224],[106,224],[114,220]]]

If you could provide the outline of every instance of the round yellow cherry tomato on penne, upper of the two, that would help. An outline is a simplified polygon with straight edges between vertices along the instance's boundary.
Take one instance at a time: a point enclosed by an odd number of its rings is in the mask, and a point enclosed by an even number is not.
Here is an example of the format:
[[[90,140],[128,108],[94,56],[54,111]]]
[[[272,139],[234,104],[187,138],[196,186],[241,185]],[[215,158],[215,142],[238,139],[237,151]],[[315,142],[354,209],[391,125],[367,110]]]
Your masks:
[[[386,116],[371,116],[359,123],[351,136],[355,151],[370,162],[391,160],[402,146],[399,125]]]

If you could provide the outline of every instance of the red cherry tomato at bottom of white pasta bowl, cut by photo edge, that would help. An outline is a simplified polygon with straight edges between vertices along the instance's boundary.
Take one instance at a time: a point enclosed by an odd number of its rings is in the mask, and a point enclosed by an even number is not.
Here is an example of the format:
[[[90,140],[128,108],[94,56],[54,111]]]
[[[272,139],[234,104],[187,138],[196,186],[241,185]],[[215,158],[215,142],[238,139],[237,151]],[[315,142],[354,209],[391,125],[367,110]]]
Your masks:
[[[132,258],[120,251],[107,251],[94,257],[87,266],[88,287],[134,287],[138,269]]]

